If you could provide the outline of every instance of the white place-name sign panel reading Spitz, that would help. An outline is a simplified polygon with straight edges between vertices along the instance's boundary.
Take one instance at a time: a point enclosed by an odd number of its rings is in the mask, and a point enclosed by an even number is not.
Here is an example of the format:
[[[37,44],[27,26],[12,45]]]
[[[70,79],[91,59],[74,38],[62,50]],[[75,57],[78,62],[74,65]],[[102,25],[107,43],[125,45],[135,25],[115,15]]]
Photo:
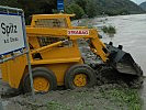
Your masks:
[[[22,16],[0,14],[0,55],[25,47]]]

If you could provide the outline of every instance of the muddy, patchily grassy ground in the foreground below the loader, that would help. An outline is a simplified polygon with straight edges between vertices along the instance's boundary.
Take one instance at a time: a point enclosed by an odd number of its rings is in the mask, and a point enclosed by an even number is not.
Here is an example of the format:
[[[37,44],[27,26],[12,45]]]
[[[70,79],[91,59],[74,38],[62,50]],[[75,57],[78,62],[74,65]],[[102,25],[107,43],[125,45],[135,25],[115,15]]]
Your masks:
[[[2,99],[2,103],[4,110],[142,110],[143,100],[135,89],[104,85],[37,94],[35,101],[30,95],[21,95]]]

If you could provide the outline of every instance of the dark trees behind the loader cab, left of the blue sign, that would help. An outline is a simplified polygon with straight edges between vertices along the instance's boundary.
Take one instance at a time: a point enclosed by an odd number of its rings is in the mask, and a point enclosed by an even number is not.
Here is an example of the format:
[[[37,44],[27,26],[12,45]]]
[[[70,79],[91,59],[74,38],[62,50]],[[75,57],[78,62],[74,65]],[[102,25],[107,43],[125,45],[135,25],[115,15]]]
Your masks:
[[[21,8],[25,12],[26,24],[31,21],[32,14],[53,13],[57,8],[57,0],[0,0],[0,6]]]

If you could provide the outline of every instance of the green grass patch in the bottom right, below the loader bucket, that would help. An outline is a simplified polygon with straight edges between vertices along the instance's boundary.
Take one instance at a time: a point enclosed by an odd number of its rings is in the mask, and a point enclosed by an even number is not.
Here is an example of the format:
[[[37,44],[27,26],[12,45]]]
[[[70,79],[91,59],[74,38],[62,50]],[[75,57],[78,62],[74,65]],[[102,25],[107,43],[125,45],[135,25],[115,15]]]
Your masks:
[[[112,89],[104,92],[105,97],[111,97],[114,102],[119,101],[127,106],[127,110],[142,110],[142,100],[135,89]]]

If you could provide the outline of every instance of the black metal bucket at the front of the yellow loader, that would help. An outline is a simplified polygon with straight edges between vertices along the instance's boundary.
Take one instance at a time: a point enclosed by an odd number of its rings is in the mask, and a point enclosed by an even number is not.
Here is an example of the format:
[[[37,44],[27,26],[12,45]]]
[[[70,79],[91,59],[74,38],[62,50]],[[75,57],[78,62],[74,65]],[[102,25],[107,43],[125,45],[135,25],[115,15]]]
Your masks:
[[[106,44],[106,47],[110,52],[110,64],[115,68],[119,73],[130,74],[142,76],[143,70],[135,63],[130,53],[122,51],[122,45],[119,47],[114,47],[110,44]]]

